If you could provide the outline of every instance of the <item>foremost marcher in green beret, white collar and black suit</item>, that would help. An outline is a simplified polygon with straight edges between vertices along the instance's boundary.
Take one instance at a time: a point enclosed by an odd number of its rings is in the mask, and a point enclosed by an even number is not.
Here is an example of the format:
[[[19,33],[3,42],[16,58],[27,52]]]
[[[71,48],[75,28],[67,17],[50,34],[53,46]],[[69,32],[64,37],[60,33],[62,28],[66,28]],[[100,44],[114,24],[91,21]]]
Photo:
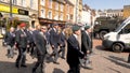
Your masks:
[[[67,63],[69,65],[68,73],[80,73],[79,58],[83,58],[83,53],[80,52],[78,35],[80,34],[80,27],[73,26],[73,35],[67,40]]]

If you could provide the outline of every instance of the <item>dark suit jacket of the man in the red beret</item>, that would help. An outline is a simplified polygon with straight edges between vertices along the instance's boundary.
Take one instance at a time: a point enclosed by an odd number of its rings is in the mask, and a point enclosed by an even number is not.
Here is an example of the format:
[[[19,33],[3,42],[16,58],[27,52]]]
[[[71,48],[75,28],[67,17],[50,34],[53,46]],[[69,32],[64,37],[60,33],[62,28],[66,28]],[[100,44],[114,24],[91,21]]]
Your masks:
[[[16,43],[17,43],[17,47],[20,47],[20,48],[27,47],[27,33],[26,33],[26,31],[25,31],[25,34],[22,30],[16,31]]]

